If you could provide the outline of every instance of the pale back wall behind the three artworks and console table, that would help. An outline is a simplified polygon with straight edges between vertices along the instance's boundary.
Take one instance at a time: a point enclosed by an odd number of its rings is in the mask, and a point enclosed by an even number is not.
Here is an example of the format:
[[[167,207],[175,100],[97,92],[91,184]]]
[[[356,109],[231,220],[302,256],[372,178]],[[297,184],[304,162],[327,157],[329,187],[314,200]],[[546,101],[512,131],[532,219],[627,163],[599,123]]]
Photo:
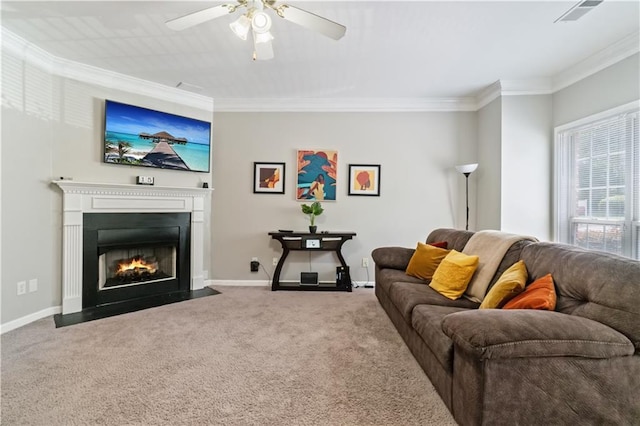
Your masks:
[[[475,151],[475,113],[216,113],[213,263],[219,280],[267,280],[249,272],[258,257],[271,274],[280,247],[267,232],[304,230],[295,201],[298,149],[338,151],[337,201],[324,202],[319,230],[354,231],[343,254],[356,281],[373,280],[363,257],[382,245],[415,246],[435,227],[464,226],[464,180],[454,169]],[[285,194],[253,194],[253,162],[285,162]],[[380,197],[348,196],[348,164],[380,164]],[[296,256],[297,255],[297,256]],[[309,268],[293,253],[285,279]],[[321,279],[335,274],[333,254],[316,253]]]

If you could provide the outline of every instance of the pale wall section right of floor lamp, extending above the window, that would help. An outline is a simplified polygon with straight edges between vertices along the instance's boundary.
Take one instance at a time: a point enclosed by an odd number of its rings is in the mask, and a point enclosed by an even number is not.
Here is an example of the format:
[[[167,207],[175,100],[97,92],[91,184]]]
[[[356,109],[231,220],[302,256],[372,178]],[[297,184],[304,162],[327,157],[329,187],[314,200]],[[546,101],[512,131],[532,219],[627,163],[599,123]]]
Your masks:
[[[553,95],[502,96],[481,108],[477,224],[471,229],[551,240],[553,127],[637,102],[639,76],[640,54],[634,54]]]

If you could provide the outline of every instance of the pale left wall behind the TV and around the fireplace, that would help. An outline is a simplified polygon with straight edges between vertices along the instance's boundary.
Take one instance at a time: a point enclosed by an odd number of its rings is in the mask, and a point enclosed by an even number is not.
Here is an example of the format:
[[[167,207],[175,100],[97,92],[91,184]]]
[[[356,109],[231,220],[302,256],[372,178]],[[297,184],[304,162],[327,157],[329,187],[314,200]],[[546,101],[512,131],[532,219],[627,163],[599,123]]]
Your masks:
[[[52,313],[61,305],[62,196],[52,180],[65,176],[80,182],[132,184],[135,176],[150,174],[158,186],[211,182],[211,173],[102,163],[104,99],[207,121],[212,108],[206,111],[57,77],[46,65],[25,62],[4,46],[2,93],[0,321],[5,324],[42,311]],[[205,226],[210,232],[209,224]],[[210,239],[206,240],[208,269]],[[17,283],[32,279],[38,282],[37,291],[18,296]]]

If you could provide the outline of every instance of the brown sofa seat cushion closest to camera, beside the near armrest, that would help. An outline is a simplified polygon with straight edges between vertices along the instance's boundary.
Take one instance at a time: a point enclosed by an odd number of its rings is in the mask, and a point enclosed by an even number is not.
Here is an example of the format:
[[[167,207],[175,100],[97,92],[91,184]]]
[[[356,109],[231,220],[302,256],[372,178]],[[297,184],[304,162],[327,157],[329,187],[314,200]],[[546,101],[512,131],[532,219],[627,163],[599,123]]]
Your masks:
[[[449,306],[418,305],[413,308],[411,325],[431,349],[442,368],[453,369],[453,341],[442,331],[442,319],[454,312],[466,310]]]

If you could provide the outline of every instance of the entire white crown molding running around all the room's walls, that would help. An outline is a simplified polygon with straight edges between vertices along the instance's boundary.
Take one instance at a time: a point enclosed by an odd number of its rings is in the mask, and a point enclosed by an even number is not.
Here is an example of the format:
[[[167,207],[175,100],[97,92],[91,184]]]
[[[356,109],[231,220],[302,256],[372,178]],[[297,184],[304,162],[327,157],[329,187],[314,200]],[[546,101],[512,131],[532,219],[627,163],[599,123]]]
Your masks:
[[[55,57],[6,28],[2,48],[51,74],[220,112],[452,112],[477,111],[500,96],[548,95],[640,52],[640,32],[556,74],[535,80],[498,80],[470,97],[452,98],[212,98]]]

